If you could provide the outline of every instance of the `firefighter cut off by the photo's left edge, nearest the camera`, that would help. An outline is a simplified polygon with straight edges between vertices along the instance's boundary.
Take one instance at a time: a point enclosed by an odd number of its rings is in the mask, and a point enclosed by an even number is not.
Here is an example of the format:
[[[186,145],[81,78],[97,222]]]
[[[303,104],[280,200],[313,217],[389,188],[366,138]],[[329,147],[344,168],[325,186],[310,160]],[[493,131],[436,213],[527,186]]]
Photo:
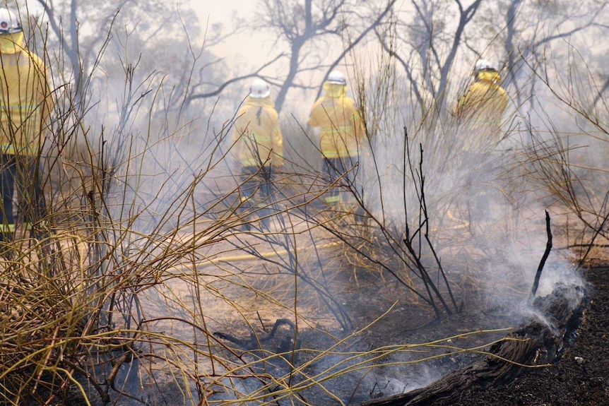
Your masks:
[[[46,215],[39,164],[53,101],[45,64],[25,47],[20,22],[7,8],[0,8],[0,59],[0,235],[9,240],[16,229],[15,191],[24,228],[36,230]]]

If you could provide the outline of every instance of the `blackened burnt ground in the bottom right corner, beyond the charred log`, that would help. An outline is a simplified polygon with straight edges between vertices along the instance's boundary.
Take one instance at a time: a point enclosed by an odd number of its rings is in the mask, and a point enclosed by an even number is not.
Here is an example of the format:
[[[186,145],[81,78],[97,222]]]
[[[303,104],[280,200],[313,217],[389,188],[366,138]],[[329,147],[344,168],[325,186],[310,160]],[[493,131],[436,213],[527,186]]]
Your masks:
[[[574,345],[564,350],[559,362],[525,369],[505,386],[463,390],[435,405],[609,405],[609,267],[591,268],[586,274],[590,301]]]

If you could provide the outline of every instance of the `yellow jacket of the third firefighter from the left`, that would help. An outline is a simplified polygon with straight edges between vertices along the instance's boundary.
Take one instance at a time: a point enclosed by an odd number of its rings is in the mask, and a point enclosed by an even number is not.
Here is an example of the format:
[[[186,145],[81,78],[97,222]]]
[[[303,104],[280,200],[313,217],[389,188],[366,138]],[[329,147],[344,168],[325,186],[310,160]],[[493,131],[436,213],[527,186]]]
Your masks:
[[[364,127],[345,85],[324,83],[325,94],[314,103],[309,125],[319,127],[319,148],[326,158],[359,155]]]

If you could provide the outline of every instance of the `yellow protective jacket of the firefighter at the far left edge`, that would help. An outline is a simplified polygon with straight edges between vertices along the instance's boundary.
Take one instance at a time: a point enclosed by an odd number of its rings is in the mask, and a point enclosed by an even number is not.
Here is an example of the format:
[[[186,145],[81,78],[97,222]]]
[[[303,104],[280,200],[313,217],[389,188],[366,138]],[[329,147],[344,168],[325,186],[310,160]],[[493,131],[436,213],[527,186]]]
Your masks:
[[[49,131],[53,100],[45,64],[23,44],[23,32],[0,35],[0,148],[36,155]]]

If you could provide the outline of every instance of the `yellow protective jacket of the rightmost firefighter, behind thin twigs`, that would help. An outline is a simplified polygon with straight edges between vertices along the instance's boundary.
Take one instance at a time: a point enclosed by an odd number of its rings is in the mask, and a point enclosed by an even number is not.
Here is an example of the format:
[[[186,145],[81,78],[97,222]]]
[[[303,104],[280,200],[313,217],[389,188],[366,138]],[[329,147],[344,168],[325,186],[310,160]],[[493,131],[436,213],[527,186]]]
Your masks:
[[[499,82],[498,72],[478,72],[478,80],[461,97],[456,105],[455,114],[469,129],[495,131],[499,137],[508,99],[507,93],[497,82]]]

